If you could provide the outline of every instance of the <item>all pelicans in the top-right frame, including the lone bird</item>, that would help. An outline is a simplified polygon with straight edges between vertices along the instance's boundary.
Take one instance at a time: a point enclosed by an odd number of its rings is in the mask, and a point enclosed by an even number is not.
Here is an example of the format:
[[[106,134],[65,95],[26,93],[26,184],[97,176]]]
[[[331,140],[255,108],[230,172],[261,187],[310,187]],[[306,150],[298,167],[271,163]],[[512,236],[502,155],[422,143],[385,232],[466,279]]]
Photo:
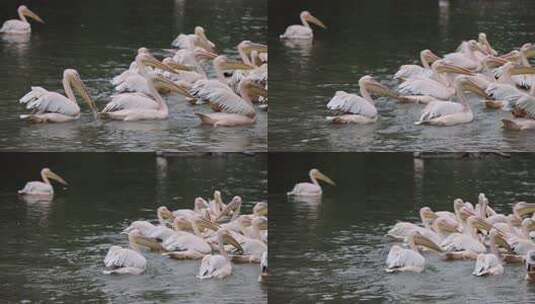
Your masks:
[[[281,39],[313,39],[310,23],[326,28],[308,11],[300,15],[303,25],[291,25]],[[366,75],[360,78],[360,95],[338,91],[327,103],[334,113],[327,116],[336,124],[369,124],[379,113],[372,96],[386,96],[400,103],[425,104],[416,125],[453,126],[474,120],[467,93],[482,99],[489,109],[510,111],[502,119],[503,127],[513,130],[535,128],[535,68],[529,59],[535,46],[522,45],[518,50],[499,54],[485,33],[476,40],[463,41],[455,52],[442,58],[430,50],[420,52],[421,65],[403,65],[394,75],[401,83],[392,90]]]

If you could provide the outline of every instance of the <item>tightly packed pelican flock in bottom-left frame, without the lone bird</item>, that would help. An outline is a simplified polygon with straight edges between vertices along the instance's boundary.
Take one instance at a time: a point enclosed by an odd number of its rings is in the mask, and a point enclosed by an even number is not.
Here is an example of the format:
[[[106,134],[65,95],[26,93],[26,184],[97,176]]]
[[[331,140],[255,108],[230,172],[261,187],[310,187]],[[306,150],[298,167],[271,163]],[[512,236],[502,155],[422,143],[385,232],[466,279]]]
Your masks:
[[[135,221],[122,231],[130,248],[111,246],[104,273],[142,274],[144,253],[153,251],[176,260],[201,260],[199,279],[223,279],[232,274],[233,263],[257,263],[262,281],[268,275],[267,203],[256,203],[252,214],[240,214],[241,205],[241,197],[225,204],[215,191],[212,200],[196,198],[192,209],[159,207],[156,223]]]

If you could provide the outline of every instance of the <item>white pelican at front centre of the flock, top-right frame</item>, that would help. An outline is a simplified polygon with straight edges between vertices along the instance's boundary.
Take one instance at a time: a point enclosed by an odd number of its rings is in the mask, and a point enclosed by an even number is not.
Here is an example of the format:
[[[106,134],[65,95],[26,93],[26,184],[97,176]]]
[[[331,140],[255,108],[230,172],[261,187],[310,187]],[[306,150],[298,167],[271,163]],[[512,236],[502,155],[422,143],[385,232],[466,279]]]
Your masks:
[[[480,90],[480,88],[470,78],[464,76],[455,79],[455,88],[460,102],[432,101],[423,109],[420,119],[414,124],[453,126],[471,122],[474,114],[464,91],[465,89]]]

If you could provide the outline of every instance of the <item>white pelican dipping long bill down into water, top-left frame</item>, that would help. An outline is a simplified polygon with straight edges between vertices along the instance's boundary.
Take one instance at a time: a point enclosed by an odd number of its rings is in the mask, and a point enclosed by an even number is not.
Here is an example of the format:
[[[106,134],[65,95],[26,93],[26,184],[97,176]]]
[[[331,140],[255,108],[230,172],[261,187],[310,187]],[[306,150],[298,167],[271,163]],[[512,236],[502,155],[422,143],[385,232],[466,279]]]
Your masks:
[[[67,97],[42,87],[32,87],[32,90],[20,99],[20,103],[26,104],[26,108],[33,110],[34,113],[20,115],[20,118],[36,123],[68,122],[78,119],[80,107],[76,102],[73,88],[96,116],[95,102],[89,96],[80,75],[76,70],[66,69],[63,71],[63,89]]]

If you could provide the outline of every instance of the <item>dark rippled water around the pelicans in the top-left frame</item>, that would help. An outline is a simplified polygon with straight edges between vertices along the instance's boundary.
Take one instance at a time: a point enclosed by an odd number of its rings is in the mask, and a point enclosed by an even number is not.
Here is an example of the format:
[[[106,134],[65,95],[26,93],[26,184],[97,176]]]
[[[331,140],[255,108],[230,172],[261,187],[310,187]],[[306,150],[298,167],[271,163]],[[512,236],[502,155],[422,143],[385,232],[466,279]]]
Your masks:
[[[20,1],[0,3],[0,21],[15,18]],[[27,3],[26,3],[27,2]],[[181,32],[202,25],[221,54],[237,58],[235,46],[248,39],[266,43],[267,4],[263,0],[26,1],[46,24],[32,23],[28,41],[0,37],[0,150],[11,151],[265,151],[267,113],[258,111],[250,127],[200,125],[181,97],[168,97],[169,119],[94,122],[83,106],[76,122],[30,125],[18,100],[30,86],[63,91],[65,68],[75,68],[99,109],[110,100],[110,79],[128,68],[139,47],[158,58],[168,55]],[[211,72],[211,75],[213,73]],[[213,76],[213,75],[212,75]]]

